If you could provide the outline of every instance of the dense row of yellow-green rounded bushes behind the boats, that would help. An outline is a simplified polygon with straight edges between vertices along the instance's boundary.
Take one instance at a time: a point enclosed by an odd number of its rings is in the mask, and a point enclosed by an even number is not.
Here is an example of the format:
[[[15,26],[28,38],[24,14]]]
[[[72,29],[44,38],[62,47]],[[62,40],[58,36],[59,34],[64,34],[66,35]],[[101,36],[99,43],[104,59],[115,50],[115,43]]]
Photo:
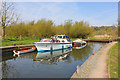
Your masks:
[[[65,34],[72,38],[85,38],[92,36],[94,28],[87,22],[66,20],[64,25],[55,25],[52,20],[41,19],[35,23],[31,21],[27,24],[9,25],[6,27],[6,36],[27,36],[36,38],[46,38],[57,34]]]

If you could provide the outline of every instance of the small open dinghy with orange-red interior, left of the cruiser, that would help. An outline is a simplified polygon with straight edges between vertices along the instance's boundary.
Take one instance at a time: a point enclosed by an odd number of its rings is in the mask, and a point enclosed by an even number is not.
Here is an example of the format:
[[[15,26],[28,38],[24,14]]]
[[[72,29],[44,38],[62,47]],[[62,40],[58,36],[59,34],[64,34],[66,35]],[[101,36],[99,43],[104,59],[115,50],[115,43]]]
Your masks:
[[[13,56],[23,54],[23,53],[27,53],[27,52],[32,52],[32,51],[35,51],[35,49],[36,49],[35,47],[27,47],[27,48],[13,50],[13,52],[14,52]]]

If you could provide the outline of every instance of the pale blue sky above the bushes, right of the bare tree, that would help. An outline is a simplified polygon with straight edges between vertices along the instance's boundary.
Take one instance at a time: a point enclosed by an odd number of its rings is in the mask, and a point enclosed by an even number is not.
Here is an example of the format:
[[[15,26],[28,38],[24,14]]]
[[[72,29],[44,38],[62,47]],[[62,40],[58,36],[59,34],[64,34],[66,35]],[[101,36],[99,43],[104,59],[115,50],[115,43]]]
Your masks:
[[[117,2],[16,2],[16,10],[23,21],[53,20],[56,25],[65,20],[87,21],[92,26],[116,25]]]

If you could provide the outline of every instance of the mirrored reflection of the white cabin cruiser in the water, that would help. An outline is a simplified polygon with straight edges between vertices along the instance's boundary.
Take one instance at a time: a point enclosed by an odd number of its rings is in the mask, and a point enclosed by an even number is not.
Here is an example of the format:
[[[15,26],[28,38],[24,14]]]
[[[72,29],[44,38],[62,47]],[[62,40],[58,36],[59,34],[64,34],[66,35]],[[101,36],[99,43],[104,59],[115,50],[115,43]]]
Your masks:
[[[35,62],[40,61],[42,64],[57,64],[56,62],[64,62],[70,56],[72,49],[63,49],[52,52],[38,52]]]

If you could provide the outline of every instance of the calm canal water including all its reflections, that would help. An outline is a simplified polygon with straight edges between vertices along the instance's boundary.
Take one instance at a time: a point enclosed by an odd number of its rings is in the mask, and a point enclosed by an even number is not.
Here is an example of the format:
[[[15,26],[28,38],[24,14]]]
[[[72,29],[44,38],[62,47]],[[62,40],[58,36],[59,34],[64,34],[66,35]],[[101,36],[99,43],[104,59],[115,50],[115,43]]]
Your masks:
[[[54,52],[32,52],[13,57],[13,53],[2,55],[3,78],[70,78],[77,65],[82,65],[94,50],[105,43],[88,43],[80,50],[67,49]]]

